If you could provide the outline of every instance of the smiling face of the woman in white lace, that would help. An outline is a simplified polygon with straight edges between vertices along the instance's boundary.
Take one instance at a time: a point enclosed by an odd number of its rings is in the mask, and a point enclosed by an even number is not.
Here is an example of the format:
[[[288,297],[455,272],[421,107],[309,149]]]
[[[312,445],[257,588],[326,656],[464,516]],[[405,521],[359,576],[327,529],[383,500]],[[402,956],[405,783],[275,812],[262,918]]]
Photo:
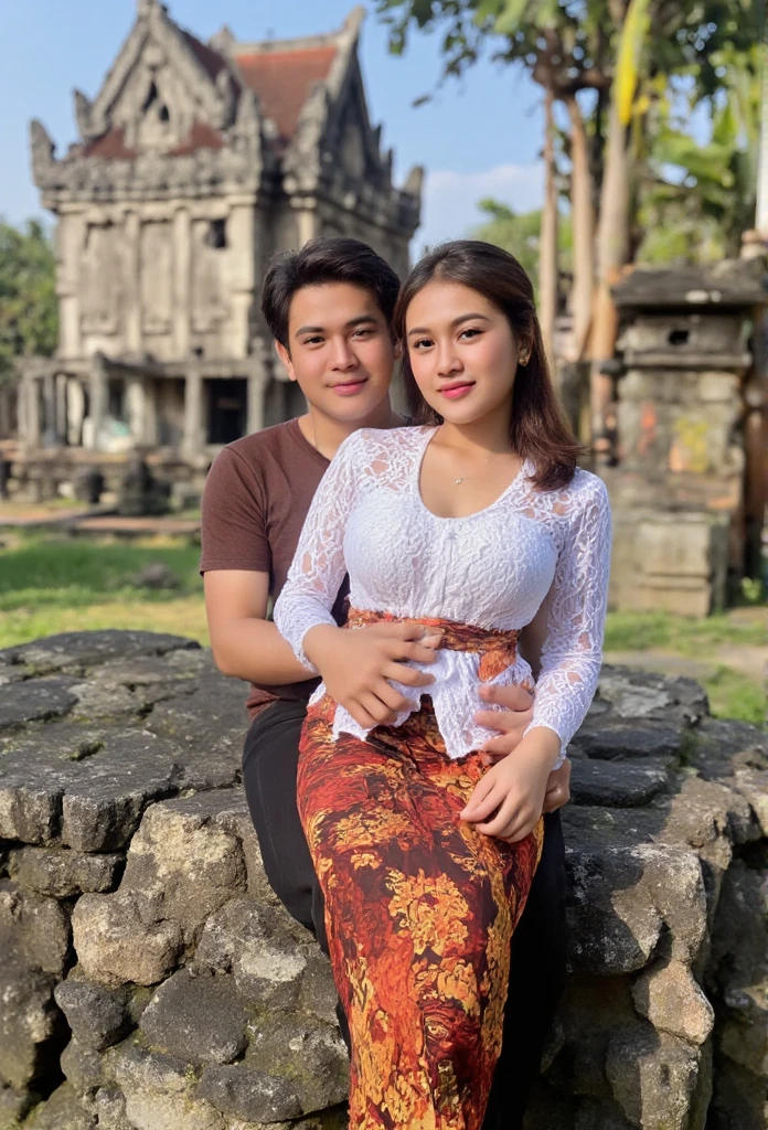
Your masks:
[[[518,345],[505,314],[477,290],[427,284],[408,306],[405,341],[421,395],[447,423],[509,411]]]

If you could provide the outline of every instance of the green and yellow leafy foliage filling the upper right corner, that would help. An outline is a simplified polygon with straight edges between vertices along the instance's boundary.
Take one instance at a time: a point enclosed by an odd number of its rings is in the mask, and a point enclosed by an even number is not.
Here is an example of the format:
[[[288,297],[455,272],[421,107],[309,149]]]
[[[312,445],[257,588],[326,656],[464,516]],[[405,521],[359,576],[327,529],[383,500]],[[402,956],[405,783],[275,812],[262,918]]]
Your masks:
[[[374,0],[401,53],[442,31],[443,77],[481,53],[525,67],[587,116],[599,199],[611,88],[635,171],[630,250],[644,261],[733,254],[752,223],[761,0]],[[597,92],[584,98],[585,90]],[[684,114],[677,107],[684,103]],[[693,136],[702,107],[710,138]],[[699,115],[700,120],[700,115]],[[568,141],[564,146],[568,153]]]

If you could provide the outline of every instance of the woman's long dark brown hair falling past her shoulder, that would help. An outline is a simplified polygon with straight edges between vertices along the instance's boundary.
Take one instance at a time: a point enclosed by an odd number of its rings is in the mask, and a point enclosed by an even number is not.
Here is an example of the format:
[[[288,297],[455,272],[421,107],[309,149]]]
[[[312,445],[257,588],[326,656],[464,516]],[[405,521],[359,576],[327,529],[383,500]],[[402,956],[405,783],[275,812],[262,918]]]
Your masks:
[[[393,328],[403,348],[403,381],[417,424],[442,424],[443,417],[421,395],[405,341],[405,314],[428,282],[457,282],[477,290],[506,316],[527,365],[515,376],[509,440],[513,451],[535,466],[534,484],[556,490],[570,483],[581,446],[558,403],[544,354],[533,286],[514,255],[479,240],[455,240],[428,252],[405,279],[394,310]]]

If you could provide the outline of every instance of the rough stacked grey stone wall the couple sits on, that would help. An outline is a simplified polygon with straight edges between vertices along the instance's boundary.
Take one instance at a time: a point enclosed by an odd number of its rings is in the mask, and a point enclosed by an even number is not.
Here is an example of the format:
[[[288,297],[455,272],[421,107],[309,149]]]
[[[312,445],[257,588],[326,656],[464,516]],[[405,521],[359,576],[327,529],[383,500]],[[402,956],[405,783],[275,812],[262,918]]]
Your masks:
[[[344,1124],[328,963],[238,785],[243,697],[178,637],[0,652],[2,1130]],[[573,755],[571,975],[529,1125],[762,1130],[760,731],[605,669]]]

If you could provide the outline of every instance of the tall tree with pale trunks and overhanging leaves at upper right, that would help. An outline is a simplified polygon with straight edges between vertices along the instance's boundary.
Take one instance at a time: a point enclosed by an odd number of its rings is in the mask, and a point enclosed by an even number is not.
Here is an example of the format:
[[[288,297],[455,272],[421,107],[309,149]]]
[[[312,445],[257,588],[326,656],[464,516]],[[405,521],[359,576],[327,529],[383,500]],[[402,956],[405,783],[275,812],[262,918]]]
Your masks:
[[[442,26],[444,76],[462,73],[490,45],[495,58],[524,66],[548,99],[566,106],[573,305],[581,345],[591,316],[593,432],[600,436],[611,391],[602,370],[617,330],[610,287],[637,242],[638,154],[646,147],[649,111],[654,99],[675,96],[678,76],[688,80],[695,103],[716,97],[724,78],[718,53],[728,43],[744,52],[759,42],[760,0],[375,0],[375,7],[395,53],[411,26]],[[588,122],[586,90],[596,92]]]

